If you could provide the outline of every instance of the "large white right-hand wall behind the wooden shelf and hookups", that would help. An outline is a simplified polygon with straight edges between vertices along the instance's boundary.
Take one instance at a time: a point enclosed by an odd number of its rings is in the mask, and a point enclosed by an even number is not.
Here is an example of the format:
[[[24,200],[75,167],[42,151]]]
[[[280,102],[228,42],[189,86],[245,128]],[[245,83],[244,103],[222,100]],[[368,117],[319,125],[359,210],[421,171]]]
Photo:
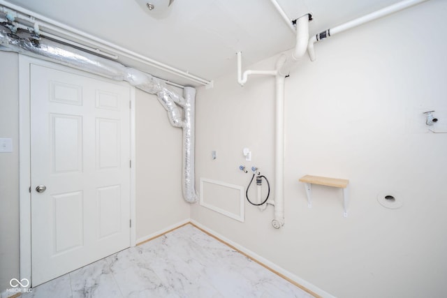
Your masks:
[[[437,110],[446,128],[446,15],[447,2],[432,0],[340,33],[286,78],[281,230],[270,225],[272,207],[248,203],[245,223],[198,205],[191,218],[337,297],[443,296],[447,134],[421,133],[421,113]],[[272,69],[276,59],[249,68]],[[243,88],[235,73],[215,80],[198,91],[196,115],[196,177],[247,186],[244,164],[274,181],[271,77]],[[349,179],[349,216],[335,188],[314,186],[308,209],[304,174]],[[403,207],[382,207],[379,193],[397,194]]]

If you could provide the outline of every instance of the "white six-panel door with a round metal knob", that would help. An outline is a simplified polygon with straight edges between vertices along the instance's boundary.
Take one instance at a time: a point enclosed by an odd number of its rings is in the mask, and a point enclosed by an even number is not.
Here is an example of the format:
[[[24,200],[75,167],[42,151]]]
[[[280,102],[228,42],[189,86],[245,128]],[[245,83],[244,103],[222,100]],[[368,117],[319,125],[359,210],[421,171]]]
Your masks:
[[[131,87],[34,64],[30,82],[36,286],[129,247]]]

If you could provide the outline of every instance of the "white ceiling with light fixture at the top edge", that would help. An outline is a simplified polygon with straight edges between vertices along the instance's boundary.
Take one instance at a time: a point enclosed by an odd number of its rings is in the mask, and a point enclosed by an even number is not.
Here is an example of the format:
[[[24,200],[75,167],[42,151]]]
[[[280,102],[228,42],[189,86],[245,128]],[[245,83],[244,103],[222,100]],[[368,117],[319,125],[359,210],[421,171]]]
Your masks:
[[[312,13],[311,35],[399,0],[278,0],[290,19]],[[68,26],[193,75],[213,80],[291,49],[294,35],[270,0],[175,0],[163,19],[148,15],[135,0],[9,0]],[[123,64],[179,84],[188,80],[135,61]]]

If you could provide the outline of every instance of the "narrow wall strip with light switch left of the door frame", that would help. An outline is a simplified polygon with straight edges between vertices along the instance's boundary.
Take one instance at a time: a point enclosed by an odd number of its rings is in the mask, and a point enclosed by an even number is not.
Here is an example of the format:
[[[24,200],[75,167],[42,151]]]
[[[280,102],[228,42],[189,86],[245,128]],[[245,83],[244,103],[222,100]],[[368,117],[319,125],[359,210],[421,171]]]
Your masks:
[[[19,278],[19,87],[17,54],[0,52],[0,137],[13,153],[0,153],[0,293]]]

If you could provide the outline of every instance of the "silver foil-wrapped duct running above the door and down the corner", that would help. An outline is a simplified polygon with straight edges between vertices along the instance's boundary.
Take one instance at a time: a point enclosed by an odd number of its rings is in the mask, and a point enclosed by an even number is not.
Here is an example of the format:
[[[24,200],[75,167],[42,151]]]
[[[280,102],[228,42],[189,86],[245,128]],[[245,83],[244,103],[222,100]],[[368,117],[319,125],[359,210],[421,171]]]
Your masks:
[[[46,38],[36,38],[26,31],[16,34],[0,24],[0,50],[17,52],[38,59],[52,61],[72,68],[108,77],[112,80],[126,81],[142,91],[156,94],[159,102],[168,112],[170,124],[183,128],[183,195],[184,200],[198,201],[194,181],[194,96],[196,89],[185,88],[185,98],[168,89],[163,80],[129,68],[75,47],[55,43]],[[184,109],[184,119],[180,108]]]

